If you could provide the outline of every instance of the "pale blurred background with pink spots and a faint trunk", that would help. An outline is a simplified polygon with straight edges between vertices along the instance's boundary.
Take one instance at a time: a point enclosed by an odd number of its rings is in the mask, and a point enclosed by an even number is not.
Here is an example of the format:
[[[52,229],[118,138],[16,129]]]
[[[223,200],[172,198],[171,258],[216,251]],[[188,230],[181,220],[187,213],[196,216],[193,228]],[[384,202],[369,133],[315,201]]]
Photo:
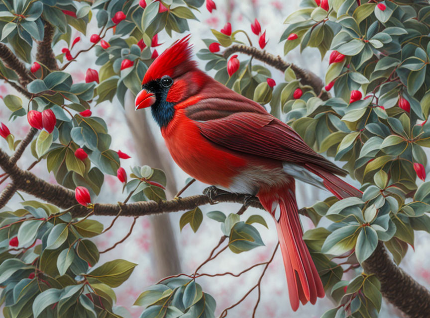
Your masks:
[[[189,22],[190,33],[192,34],[191,42],[194,44],[195,52],[206,48],[202,39],[214,39],[211,28],[219,30],[226,22],[232,24],[233,30],[245,30],[250,35],[254,45],[257,45],[258,37],[252,34],[250,29],[250,23],[253,22],[254,18],[257,18],[262,30],[267,30],[266,39],[269,42],[265,49],[275,55],[279,54],[283,56],[283,45],[279,44],[279,38],[285,29],[283,22],[290,13],[299,8],[298,1],[214,1],[216,3],[216,10],[212,14],[206,10],[205,6],[202,6],[202,12],[195,12],[200,22]],[[72,36],[72,38],[81,36],[81,41],[73,48],[74,51],[90,46],[90,36],[98,32],[95,22],[95,15],[93,15],[93,21],[89,25],[86,36],[77,31],[75,36]],[[164,42],[164,44],[157,47],[157,51],[161,53],[174,40],[182,36],[183,34],[174,33],[172,38],[170,38],[166,33],[160,33],[159,42]],[[243,41],[245,42],[245,38],[243,38]],[[61,49],[66,46],[65,42],[58,43],[54,47],[55,54],[60,54]],[[245,59],[244,56],[241,57],[239,55],[239,60],[241,58]],[[296,48],[284,57],[284,59],[311,70],[322,78],[328,66],[328,54],[321,60],[320,53],[316,48],[307,48],[302,54]],[[88,68],[99,71],[100,67],[95,65],[95,60],[94,52],[87,52],[78,58],[78,62],[72,63],[66,71],[72,74],[75,83],[82,82]],[[199,61],[199,64],[204,69],[204,63]],[[283,80],[281,72],[277,70],[271,71],[272,77],[276,82]],[[4,96],[9,93],[18,94],[6,84],[1,83],[0,94]],[[99,104],[92,111],[94,115],[103,117],[108,123],[109,133],[112,136],[111,148],[113,150],[121,150],[131,156],[130,159],[121,159],[121,166],[126,169],[127,173],[130,172],[130,166],[133,165],[148,164],[164,169],[169,179],[167,195],[168,198],[173,198],[178,189],[181,189],[185,185],[185,180],[189,176],[176,166],[170,158],[159,129],[152,121],[150,110],[134,112],[134,97],[129,94],[125,109],[114,99],[112,103],[104,102]],[[5,106],[0,107],[0,119],[2,122],[7,123],[9,114],[10,112]],[[9,123],[8,127],[12,134],[15,135],[15,138],[18,139],[24,137],[28,131],[25,117]],[[8,149],[4,139],[0,140],[0,147]],[[26,168],[32,161],[33,159],[29,151],[27,151],[18,164]],[[45,162],[42,161],[36,165],[32,171],[36,175],[49,180],[49,182],[55,183],[54,176],[47,173]],[[353,180],[349,181],[354,182]],[[7,185],[7,182],[8,180],[0,185],[1,189]],[[205,187],[207,185],[195,182],[182,196],[200,194]],[[122,184],[118,179],[115,176],[106,175],[105,183],[101,194],[97,198],[97,202],[115,203],[122,201],[125,199],[126,194],[122,194],[121,191]],[[324,199],[327,194],[327,192],[323,192],[320,189],[298,182],[297,199],[299,208],[311,206],[316,201]],[[26,199],[29,197],[26,194],[23,195]],[[17,201],[14,200],[11,200],[8,204],[8,208],[11,209],[18,207]],[[202,207],[202,211],[206,214],[209,211],[220,210],[228,215],[229,213],[237,212],[239,208],[240,205],[238,204],[218,204],[215,206],[204,206]],[[178,212],[160,217],[141,217],[137,220],[133,233],[128,239],[113,250],[101,254],[101,263],[116,258],[123,258],[138,264],[128,281],[115,289],[117,305],[127,308],[130,312],[129,317],[139,317],[142,308],[133,307],[132,305],[146,287],[155,284],[164,276],[178,272],[194,272],[196,267],[209,256],[210,251],[217,244],[221,236],[218,222],[205,217],[202,226],[196,234],[191,230],[189,225],[180,232],[179,219],[182,214],[183,212]],[[230,271],[238,273],[254,263],[264,262],[270,258],[273,248],[277,243],[277,234],[273,221],[267,213],[256,209],[248,209],[245,217],[252,214],[260,214],[266,219],[269,229],[258,224],[256,225],[266,246],[258,247],[241,254],[234,254],[226,250],[214,261],[205,265],[201,269],[201,272],[213,274]],[[112,220],[111,217],[99,217],[98,219],[105,224],[105,227]],[[301,220],[305,231],[313,227],[312,222],[308,218],[301,217]],[[324,222],[324,220],[322,219],[321,222]],[[95,242],[99,250],[104,250],[122,239],[128,233],[131,223],[131,218],[119,218],[110,231],[100,237],[96,237]],[[416,232],[416,234],[415,251],[409,248],[405,259],[401,263],[401,267],[421,284],[430,288],[430,258],[428,257],[430,255],[430,237],[424,232]],[[262,270],[263,267],[259,266],[237,278],[228,275],[217,278],[199,278],[198,283],[202,285],[204,291],[214,296],[217,303],[216,313],[219,315],[224,308],[231,306],[241,299],[257,283]],[[350,271],[347,273],[347,278],[350,279],[356,274]],[[319,299],[314,306],[308,304],[301,306],[296,313],[292,312],[280,251],[278,251],[274,261],[270,264],[261,286],[262,295],[256,317],[318,318],[323,312],[332,308],[330,299],[326,297],[322,300]],[[243,303],[229,311],[227,317],[250,317],[256,297],[257,293],[254,291]],[[384,303],[380,317],[391,318],[401,316],[391,305]]]

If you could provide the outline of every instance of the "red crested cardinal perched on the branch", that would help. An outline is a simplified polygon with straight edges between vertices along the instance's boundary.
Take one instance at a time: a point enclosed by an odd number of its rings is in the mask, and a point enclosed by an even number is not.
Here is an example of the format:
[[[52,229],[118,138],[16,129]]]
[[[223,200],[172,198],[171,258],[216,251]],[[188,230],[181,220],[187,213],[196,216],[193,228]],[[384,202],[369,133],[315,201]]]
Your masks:
[[[324,297],[305,245],[295,178],[337,198],[361,192],[335,174],[346,171],[315,153],[300,136],[258,103],[197,68],[189,36],[176,41],[149,67],[136,110],[151,107],[176,163],[204,183],[256,195],[276,221],[294,311]]]

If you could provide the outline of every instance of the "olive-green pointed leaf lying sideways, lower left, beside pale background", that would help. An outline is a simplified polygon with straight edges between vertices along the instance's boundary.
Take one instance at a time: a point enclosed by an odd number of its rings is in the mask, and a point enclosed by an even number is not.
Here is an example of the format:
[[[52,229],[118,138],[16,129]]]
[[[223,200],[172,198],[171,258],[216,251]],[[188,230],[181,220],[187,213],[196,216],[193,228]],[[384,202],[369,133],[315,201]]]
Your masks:
[[[130,277],[136,265],[123,259],[115,259],[97,267],[87,276],[96,278],[110,287],[118,287]]]

